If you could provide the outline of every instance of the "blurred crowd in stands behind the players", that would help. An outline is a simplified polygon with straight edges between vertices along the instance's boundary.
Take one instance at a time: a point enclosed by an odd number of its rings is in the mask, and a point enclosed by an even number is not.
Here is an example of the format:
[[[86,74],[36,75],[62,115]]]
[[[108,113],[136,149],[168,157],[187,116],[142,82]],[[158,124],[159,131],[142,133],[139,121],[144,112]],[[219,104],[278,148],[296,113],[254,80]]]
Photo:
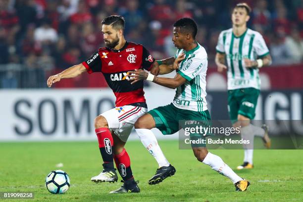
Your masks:
[[[101,20],[113,14],[125,17],[126,40],[143,44],[156,59],[175,53],[172,24],[194,18],[197,40],[214,66],[218,35],[232,26],[238,2],[253,8],[248,26],[263,35],[274,64],[303,62],[303,0],[0,0],[0,87],[22,86],[7,83],[16,77],[12,69],[38,71],[44,83],[46,71],[82,62],[104,46]],[[35,86],[28,74],[24,85],[30,79]]]

